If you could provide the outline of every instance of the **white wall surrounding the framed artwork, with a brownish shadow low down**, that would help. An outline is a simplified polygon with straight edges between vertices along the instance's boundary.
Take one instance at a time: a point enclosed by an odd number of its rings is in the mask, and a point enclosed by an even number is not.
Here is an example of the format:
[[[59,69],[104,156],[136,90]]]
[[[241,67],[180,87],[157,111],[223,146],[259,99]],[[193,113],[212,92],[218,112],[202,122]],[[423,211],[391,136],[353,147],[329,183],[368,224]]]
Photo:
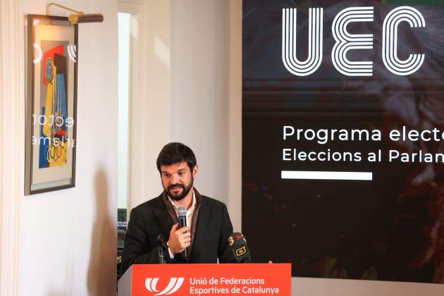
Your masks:
[[[23,14],[44,14],[45,2],[22,0]],[[21,197],[20,295],[112,295],[116,285],[117,1],[66,0],[63,4],[103,13],[104,22],[79,25],[76,185]],[[54,6],[51,14],[67,16]]]

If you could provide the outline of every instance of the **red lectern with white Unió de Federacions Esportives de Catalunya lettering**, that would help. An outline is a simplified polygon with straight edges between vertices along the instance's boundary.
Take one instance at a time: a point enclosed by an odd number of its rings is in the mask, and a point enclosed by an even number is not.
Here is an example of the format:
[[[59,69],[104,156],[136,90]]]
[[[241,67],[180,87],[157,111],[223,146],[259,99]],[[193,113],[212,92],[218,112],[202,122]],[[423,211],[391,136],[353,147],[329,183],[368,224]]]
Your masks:
[[[132,265],[118,296],[291,295],[291,264]]]

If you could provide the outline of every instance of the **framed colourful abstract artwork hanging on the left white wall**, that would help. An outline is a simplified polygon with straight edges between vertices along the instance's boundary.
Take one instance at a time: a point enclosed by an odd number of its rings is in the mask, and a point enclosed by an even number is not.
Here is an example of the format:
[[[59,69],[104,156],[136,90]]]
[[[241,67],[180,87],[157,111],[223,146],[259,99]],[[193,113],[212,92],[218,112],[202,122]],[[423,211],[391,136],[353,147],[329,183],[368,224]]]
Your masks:
[[[25,195],[75,186],[78,26],[27,16]]]

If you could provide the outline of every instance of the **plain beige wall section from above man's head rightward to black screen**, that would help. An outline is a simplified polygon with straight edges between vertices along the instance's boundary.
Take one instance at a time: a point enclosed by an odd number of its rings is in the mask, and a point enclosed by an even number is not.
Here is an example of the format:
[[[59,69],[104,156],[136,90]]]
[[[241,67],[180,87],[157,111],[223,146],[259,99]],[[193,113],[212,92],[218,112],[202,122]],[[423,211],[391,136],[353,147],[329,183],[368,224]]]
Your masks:
[[[196,187],[241,230],[242,1],[173,0],[171,139],[195,150]]]

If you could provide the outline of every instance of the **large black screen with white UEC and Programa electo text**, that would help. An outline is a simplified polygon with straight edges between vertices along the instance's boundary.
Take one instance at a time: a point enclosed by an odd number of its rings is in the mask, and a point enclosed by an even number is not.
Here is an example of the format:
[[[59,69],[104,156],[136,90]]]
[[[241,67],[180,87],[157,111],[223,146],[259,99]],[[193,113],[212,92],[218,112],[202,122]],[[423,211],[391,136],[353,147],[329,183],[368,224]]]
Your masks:
[[[243,1],[242,233],[255,261],[444,283],[443,6]]]

